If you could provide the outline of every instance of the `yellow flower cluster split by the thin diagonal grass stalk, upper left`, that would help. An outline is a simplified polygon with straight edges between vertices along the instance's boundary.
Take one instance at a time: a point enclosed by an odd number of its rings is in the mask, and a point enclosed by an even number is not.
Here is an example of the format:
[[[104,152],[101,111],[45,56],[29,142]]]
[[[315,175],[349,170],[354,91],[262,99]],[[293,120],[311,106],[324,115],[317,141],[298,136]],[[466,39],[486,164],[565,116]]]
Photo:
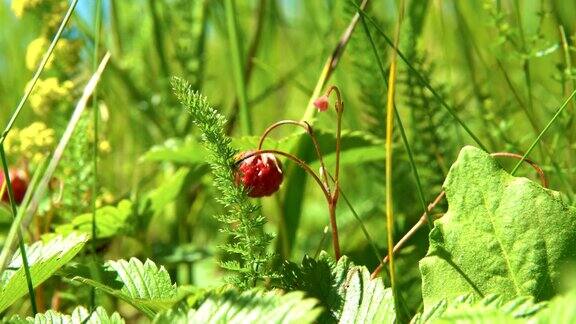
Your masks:
[[[28,44],[26,50],[26,67],[30,71],[36,70],[46,50],[48,50],[48,46],[50,46],[50,40],[43,36],[36,38]],[[46,62],[46,68],[51,68],[54,65],[54,58],[57,57],[59,62],[66,62],[65,66],[61,66],[63,72],[71,73],[80,61],[80,46],[79,41],[61,39],[56,44],[52,56],[48,62]]]

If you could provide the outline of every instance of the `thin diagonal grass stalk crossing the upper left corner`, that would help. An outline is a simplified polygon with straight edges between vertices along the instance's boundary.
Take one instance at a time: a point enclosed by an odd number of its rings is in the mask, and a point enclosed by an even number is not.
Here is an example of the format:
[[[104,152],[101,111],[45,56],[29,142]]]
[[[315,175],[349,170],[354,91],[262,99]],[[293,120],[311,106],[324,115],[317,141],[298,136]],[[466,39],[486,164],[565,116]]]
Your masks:
[[[30,81],[29,86],[27,86],[27,88],[24,92],[24,96],[22,96],[22,98],[20,99],[20,102],[18,103],[16,110],[12,114],[10,121],[8,121],[6,128],[2,132],[2,136],[0,137],[0,144],[4,143],[4,141],[6,140],[6,136],[8,136],[8,133],[10,132],[12,127],[14,126],[16,119],[18,118],[18,116],[22,112],[22,109],[24,108],[24,104],[26,103],[26,101],[28,101],[28,98],[30,97],[32,90],[34,90],[34,86],[36,85],[36,82],[38,82],[38,79],[40,79],[40,74],[42,74],[42,71],[44,71],[44,68],[46,67],[46,63],[48,63],[48,60],[52,56],[52,52],[54,51],[54,48],[56,47],[58,40],[60,40],[60,37],[62,36],[62,32],[64,31],[66,24],[70,20],[70,17],[72,17],[72,13],[74,12],[74,8],[76,8],[77,4],[78,4],[78,0],[73,0],[72,3],[70,4],[70,6],[68,7],[68,11],[66,12],[66,15],[64,15],[64,18],[62,19],[62,22],[60,23],[60,27],[58,27],[58,31],[54,35],[54,38],[52,39],[50,46],[48,46],[48,50],[46,50],[46,53],[44,53],[44,56],[42,57],[42,60],[40,61],[40,65],[38,65],[38,69],[36,69],[36,72],[34,73],[34,76],[32,77],[32,80]]]

